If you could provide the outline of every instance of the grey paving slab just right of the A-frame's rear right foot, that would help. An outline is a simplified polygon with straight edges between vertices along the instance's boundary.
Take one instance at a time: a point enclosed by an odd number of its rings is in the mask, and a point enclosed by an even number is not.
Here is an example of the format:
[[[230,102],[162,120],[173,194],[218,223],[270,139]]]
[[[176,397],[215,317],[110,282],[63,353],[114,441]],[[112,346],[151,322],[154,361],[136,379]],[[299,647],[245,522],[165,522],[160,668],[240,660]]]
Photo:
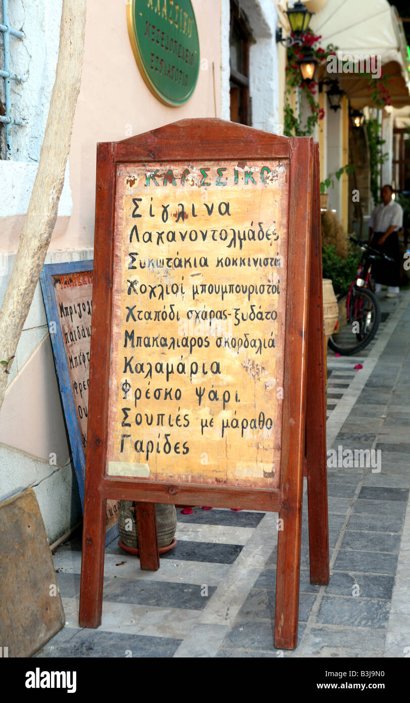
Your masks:
[[[362,598],[391,600],[394,583],[394,576],[333,572],[326,586],[326,595],[352,596],[353,588],[359,586],[359,594],[355,596],[356,598],[362,596]],[[357,588],[355,588],[355,592],[357,592]]]

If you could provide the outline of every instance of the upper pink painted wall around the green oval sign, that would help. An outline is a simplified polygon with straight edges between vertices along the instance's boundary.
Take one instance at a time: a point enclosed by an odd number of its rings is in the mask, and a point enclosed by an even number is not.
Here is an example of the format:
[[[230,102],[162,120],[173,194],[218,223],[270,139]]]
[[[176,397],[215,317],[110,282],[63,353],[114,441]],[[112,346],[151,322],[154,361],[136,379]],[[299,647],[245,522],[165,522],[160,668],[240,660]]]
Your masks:
[[[87,4],[81,91],[70,150],[73,209],[67,227],[55,231],[51,250],[93,246],[95,148],[187,117],[215,117],[212,62],[215,65],[217,116],[220,115],[220,0],[192,0],[201,63],[197,86],[183,107],[160,103],[140,75],[128,39],[124,0]]]

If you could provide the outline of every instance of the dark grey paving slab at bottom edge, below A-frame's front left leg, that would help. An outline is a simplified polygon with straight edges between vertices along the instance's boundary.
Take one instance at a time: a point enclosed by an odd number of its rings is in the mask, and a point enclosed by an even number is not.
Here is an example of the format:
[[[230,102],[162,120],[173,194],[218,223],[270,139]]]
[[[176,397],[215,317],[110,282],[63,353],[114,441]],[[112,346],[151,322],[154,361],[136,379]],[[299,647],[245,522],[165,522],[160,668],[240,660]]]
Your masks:
[[[54,640],[54,638],[53,638]],[[51,640],[51,642],[53,642]],[[80,630],[68,642],[53,649],[48,643],[46,647],[34,654],[34,657],[126,657],[127,652],[132,657],[173,657],[181,640],[166,637],[150,637],[145,635],[127,635],[102,630]],[[131,654],[128,654],[131,657]]]

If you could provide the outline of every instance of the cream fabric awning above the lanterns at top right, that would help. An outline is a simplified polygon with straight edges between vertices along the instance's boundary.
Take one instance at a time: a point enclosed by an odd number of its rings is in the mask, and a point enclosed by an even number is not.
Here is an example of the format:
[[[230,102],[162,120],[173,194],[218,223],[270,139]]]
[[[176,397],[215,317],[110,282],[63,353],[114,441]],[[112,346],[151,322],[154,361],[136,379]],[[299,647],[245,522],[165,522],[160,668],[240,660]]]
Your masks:
[[[309,8],[309,0],[305,1]],[[388,0],[327,0],[312,16],[310,28],[322,35],[321,46],[334,44],[343,57],[381,56],[383,74],[388,76],[388,92],[392,105],[410,104],[409,56],[406,37],[395,8]],[[353,108],[374,103],[369,80],[357,73],[333,74],[350,99]]]

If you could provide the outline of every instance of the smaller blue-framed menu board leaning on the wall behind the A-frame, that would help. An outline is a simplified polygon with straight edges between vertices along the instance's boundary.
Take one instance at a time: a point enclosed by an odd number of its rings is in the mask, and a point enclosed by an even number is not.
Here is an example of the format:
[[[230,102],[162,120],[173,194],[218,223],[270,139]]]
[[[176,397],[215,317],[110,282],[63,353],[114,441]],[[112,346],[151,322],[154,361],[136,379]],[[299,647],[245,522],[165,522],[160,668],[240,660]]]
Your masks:
[[[41,291],[58,386],[84,510],[93,261],[46,264]],[[105,543],[118,534],[119,501],[107,501]]]

